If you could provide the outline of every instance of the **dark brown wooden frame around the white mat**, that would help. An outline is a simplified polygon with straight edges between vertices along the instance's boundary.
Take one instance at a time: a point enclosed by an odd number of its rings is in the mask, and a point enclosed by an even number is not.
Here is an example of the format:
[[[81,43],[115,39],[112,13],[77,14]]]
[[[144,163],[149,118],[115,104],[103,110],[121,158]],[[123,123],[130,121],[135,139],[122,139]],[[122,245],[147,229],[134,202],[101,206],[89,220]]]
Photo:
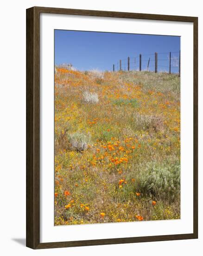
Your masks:
[[[193,233],[143,236],[85,241],[40,243],[39,218],[39,15],[56,13],[70,15],[100,16],[127,19],[168,20],[192,22],[194,33],[194,162],[193,162]],[[198,238],[198,18],[144,13],[120,13],[93,10],[32,7],[26,10],[26,246],[32,249],[88,246],[118,243],[140,243]]]

